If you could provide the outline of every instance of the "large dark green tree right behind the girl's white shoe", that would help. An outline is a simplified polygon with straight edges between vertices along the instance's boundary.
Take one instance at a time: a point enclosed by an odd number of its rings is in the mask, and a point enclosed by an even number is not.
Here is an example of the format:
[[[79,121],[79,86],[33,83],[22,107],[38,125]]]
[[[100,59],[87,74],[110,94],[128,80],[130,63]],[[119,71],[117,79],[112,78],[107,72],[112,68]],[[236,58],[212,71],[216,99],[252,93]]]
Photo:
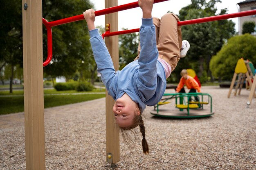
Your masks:
[[[190,5],[179,11],[180,20],[216,15],[215,4],[217,2],[221,1],[191,0]],[[225,13],[227,9],[222,9],[219,14]],[[182,26],[183,39],[188,40],[191,46],[186,57],[180,59],[174,74],[176,73],[178,77],[182,69],[193,68],[198,73],[200,81],[207,81],[207,76],[211,76],[209,61],[221,49],[225,41],[234,35],[234,26],[234,22],[228,20]],[[175,80],[179,80],[177,77]]]

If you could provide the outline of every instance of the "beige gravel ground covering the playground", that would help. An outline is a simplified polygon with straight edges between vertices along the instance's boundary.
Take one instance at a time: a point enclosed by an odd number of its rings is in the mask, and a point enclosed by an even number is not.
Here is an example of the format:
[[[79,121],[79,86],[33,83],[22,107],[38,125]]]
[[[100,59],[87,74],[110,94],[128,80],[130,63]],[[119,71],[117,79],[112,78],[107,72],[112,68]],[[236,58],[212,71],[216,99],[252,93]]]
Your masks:
[[[120,139],[115,168],[106,162],[105,98],[45,109],[46,169],[255,170],[256,99],[246,108],[249,91],[227,98],[228,90],[202,87],[213,97],[209,118],[155,118],[147,107],[150,155],[142,154],[140,142],[130,149]],[[25,167],[24,113],[0,116],[0,169]]]

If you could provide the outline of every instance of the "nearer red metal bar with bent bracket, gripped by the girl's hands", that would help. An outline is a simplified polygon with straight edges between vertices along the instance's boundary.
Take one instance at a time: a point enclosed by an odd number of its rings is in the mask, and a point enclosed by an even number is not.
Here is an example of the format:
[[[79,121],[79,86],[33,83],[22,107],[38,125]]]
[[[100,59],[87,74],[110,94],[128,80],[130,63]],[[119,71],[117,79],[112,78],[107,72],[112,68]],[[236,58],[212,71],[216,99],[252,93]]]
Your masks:
[[[164,2],[164,1],[167,1],[167,0],[155,0],[154,3]],[[132,9],[132,8],[136,8],[136,7],[139,7],[138,2],[132,2],[132,3],[128,3],[128,4],[123,4],[123,5],[95,11],[95,16],[106,15],[109,13],[124,11],[126,9]],[[48,65],[50,63],[50,61],[52,60],[52,26],[67,24],[69,22],[75,22],[75,21],[79,21],[79,20],[84,20],[83,14],[76,15],[73,17],[64,18],[61,20],[52,21],[52,22],[48,22],[47,20],[45,20],[43,18],[43,24],[45,24],[45,26],[47,28],[47,51],[48,51],[47,59],[45,62],[43,62],[43,67]]]

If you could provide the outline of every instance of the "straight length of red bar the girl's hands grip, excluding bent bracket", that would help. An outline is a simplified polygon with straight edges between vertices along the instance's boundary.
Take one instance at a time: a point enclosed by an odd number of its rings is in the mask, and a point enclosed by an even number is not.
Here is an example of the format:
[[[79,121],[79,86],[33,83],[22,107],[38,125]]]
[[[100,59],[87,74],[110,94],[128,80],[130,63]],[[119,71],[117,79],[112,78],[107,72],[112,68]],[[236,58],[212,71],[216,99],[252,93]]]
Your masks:
[[[158,3],[158,2],[164,2],[167,0],[155,0],[154,3]],[[114,13],[114,12],[118,12],[118,11],[124,11],[126,9],[132,9],[132,8],[136,8],[139,7],[138,2],[131,2],[128,4],[123,4],[123,5],[119,5],[119,6],[115,6],[115,7],[110,7],[110,8],[106,8],[106,9],[102,9],[99,11],[95,11],[95,16],[99,16],[99,15],[106,15],[109,13]],[[49,22],[49,26],[57,26],[57,25],[61,25],[61,24],[66,24],[69,22],[75,22],[75,21],[80,21],[80,20],[84,20],[83,14],[80,15],[76,15],[73,17],[67,17],[61,20],[56,20],[56,21],[52,21]]]

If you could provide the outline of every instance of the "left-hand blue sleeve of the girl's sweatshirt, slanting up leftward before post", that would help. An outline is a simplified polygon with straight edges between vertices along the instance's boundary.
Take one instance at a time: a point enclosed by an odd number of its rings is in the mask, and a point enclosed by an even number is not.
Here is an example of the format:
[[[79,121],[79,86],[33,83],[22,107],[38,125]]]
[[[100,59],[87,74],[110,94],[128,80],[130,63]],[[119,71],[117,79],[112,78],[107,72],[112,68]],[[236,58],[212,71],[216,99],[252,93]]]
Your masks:
[[[92,46],[92,52],[94,60],[98,66],[97,71],[101,74],[101,80],[109,90],[110,84],[116,76],[113,61],[108,52],[108,48],[104,43],[98,29],[89,31],[90,43]]]

